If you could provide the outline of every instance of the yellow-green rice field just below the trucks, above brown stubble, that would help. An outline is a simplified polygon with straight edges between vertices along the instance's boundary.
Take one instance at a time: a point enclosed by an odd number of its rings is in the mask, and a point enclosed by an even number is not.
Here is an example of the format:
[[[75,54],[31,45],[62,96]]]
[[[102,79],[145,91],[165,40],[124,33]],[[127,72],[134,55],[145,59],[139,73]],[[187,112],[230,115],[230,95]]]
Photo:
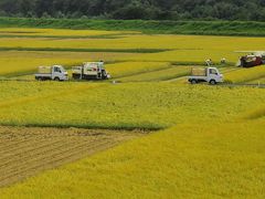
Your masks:
[[[0,121],[9,126],[167,128],[187,121],[236,119],[250,108],[258,108],[265,98],[259,88],[193,87],[159,82],[63,83],[60,86],[2,82],[0,85],[7,87],[1,94]],[[54,87],[59,91],[54,92]],[[246,97],[250,91],[252,96]]]

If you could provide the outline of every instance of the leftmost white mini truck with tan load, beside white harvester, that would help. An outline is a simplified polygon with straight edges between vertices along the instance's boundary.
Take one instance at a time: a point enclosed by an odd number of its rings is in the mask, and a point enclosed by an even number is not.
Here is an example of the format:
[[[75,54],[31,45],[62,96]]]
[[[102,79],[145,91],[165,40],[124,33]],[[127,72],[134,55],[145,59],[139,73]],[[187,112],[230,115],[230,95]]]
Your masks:
[[[68,73],[62,65],[40,66],[39,72],[35,74],[38,81],[67,81]]]

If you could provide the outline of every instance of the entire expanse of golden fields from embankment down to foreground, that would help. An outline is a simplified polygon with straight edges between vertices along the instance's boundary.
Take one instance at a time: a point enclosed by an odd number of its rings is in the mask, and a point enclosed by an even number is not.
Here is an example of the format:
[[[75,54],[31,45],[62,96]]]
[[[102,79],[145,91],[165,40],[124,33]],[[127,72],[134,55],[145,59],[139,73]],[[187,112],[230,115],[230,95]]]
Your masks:
[[[264,83],[264,65],[234,66],[264,43],[0,29],[0,198],[264,198],[265,90],[187,83],[206,59],[227,83]],[[113,80],[34,81],[99,60]]]

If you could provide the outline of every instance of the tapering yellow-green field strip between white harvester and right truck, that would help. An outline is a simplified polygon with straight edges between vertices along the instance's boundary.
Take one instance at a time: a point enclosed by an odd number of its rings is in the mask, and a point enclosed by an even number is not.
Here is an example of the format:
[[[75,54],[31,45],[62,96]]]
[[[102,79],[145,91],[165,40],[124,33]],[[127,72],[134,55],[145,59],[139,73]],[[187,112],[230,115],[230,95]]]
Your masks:
[[[151,82],[151,81],[167,81],[186,76],[190,72],[189,66],[173,66],[171,69],[157,70],[151,72],[141,73],[138,75],[118,78],[120,82]]]

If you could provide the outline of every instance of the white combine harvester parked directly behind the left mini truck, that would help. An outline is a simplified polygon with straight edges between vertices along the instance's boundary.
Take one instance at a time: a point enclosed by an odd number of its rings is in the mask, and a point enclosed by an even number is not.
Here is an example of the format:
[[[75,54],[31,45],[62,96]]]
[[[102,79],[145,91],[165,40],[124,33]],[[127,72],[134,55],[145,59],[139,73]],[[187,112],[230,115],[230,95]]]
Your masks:
[[[107,80],[110,75],[106,72],[104,62],[85,62],[82,66],[72,67],[74,80]]]

